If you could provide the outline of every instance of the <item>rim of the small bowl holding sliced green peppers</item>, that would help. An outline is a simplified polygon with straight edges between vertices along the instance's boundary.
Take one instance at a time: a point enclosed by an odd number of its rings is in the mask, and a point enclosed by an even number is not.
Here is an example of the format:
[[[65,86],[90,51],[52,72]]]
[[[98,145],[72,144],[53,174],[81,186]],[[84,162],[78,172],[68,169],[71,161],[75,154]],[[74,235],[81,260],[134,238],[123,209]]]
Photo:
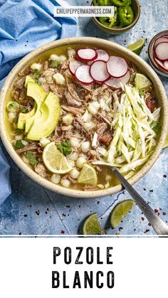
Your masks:
[[[130,29],[132,29],[137,21],[139,20],[140,18],[140,4],[137,0],[134,0],[135,1],[135,4],[137,5],[137,16],[136,18],[134,19],[134,21],[132,23],[130,23],[130,25],[126,26],[126,27],[123,27],[123,28],[110,28],[110,27],[107,27],[105,25],[103,25],[103,23],[100,23],[100,21],[98,21],[98,18],[96,18],[95,16],[93,16],[93,21],[99,26],[99,27],[102,27],[104,30],[106,31],[110,31],[111,32],[114,32],[114,33],[125,33],[125,31],[128,31]],[[93,1],[92,3],[90,4],[91,6],[93,5]]]

